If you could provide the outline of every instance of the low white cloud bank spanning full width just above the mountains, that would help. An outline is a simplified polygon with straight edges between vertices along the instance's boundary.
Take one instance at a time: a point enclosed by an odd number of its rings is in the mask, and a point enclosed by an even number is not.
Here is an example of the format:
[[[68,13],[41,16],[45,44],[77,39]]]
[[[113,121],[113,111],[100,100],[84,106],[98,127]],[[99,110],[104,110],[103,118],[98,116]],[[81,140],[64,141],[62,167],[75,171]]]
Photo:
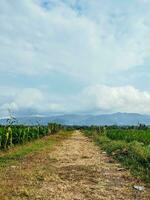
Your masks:
[[[133,86],[111,87],[93,85],[76,96],[53,97],[36,88],[0,90],[0,116],[7,116],[8,109],[14,115],[113,112],[150,113],[150,92],[140,91]],[[12,92],[10,94],[10,91]],[[3,100],[2,100],[3,99]],[[5,101],[4,101],[5,100]]]

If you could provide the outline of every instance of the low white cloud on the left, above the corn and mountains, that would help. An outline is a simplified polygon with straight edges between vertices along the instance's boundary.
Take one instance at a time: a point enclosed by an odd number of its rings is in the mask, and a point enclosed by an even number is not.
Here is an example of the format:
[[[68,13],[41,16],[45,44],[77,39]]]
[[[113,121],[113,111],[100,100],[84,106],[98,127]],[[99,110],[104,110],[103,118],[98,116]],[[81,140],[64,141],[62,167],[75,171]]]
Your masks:
[[[63,105],[53,100],[48,93],[44,93],[36,88],[14,89],[7,88],[5,96],[1,88],[0,92],[0,117],[8,116],[9,110],[14,115],[31,115],[61,113],[64,111]],[[11,93],[10,93],[11,92]],[[5,98],[4,98],[5,97]]]

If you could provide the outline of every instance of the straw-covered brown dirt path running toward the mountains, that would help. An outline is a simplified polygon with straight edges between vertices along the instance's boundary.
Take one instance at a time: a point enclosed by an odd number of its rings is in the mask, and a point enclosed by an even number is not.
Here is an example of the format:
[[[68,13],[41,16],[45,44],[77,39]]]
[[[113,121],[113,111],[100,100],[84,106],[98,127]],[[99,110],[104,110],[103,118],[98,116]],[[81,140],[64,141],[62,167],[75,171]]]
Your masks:
[[[148,188],[133,189],[141,183],[78,131],[52,152],[28,158],[13,170],[13,175],[7,171],[7,184],[12,187],[8,199],[150,199]]]

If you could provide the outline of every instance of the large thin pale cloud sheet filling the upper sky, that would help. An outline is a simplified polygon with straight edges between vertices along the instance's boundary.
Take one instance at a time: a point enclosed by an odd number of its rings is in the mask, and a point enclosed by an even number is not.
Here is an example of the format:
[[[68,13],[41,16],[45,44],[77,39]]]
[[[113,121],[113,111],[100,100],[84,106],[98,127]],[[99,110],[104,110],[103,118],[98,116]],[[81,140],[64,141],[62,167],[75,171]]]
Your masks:
[[[0,1],[0,71],[38,75],[58,70],[94,82],[108,70],[142,65],[149,56],[147,13],[124,14],[128,10],[112,11],[110,2],[85,6],[82,0],[86,12],[79,15],[62,1],[53,1],[48,10],[38,2]]]

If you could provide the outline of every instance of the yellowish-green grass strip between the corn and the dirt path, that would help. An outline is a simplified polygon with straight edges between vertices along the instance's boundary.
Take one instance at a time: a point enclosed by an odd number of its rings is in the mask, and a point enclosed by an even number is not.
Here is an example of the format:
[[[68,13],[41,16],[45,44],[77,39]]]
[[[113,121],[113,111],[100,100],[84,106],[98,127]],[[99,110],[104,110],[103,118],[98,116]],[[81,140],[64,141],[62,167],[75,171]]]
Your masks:
[[[50,149],[57,142],[69,137],[71,132],[60,131],[56,135],[45,136],[44,138],[29,142],[23,145],[17,145],[8,151],[0,152],[0,168],[16,164],[29,154],[35,154],[45,149]]]

